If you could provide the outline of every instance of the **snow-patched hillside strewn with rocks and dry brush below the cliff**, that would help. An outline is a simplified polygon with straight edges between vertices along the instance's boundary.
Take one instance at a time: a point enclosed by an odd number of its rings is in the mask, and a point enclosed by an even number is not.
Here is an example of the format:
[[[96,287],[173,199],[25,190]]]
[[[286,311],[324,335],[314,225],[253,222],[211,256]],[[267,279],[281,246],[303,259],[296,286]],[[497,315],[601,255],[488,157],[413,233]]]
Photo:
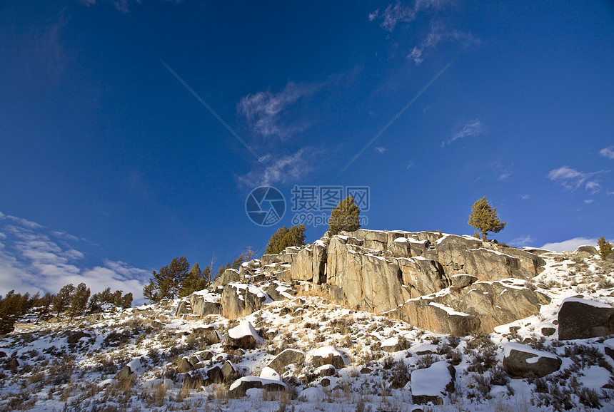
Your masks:
[[[317,290],[273,283],[265,272],[234,286],[266,299],[233,320],[177,310],[188,307],[188,299],[70,323],[26,317],[0,339],[0,408],[613,410],[614,339],[608,338],[614,335],[559,340],[560,333],[578,333],[560,329],[559,312],[563,302],[614,310],[614,264],[583,251],[533,252],[545,266],[522,287],[550,303],[490,334],[436,334],[344,307]],[[511,289],[519,281],[501,282]],[[278,300],[269,298],[273,290]],[[213,304],[218,292],[213,287],[198,296]],[[590,330],[614,327],[602,326]]]

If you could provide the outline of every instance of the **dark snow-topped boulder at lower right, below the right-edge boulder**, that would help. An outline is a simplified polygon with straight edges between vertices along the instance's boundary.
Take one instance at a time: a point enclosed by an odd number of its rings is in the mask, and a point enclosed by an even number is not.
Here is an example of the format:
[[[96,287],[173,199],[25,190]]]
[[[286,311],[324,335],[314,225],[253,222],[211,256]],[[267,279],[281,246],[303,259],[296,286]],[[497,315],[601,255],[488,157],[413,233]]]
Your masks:
[[[555,354],[528,345],[511,343],[503,350],[503,370],[510,378],[542,378],[558,371],[560,364]]]

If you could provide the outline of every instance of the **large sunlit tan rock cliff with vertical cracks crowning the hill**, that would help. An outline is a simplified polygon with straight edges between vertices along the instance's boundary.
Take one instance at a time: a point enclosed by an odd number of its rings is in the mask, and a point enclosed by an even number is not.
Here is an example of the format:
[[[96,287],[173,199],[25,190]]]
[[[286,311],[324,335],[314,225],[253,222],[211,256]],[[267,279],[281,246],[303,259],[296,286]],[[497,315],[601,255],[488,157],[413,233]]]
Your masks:
[[[257,310],[268,297],[285,299],[279,282],[267,283],[266,293],[239,284],[277,279],[286,282],[286,297],[297,290],[317,292],[421,329],[489,333],[537,314],[550,301],[526,286],[544,264],[537,254],[470,236],[361,229],[327,233],[304,247],[288,247],[238,270],[228,269],[214,282],[212,296],[200,293],[191,297],[191,304],[196,314],[235,319]]]

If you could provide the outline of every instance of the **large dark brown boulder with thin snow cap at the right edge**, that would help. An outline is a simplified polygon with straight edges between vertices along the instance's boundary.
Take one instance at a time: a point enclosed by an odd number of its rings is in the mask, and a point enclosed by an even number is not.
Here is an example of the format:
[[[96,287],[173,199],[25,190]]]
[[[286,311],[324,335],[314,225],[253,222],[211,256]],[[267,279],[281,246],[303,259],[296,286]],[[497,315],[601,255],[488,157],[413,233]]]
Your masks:
[[[614,334],[614,308],[602,302],[568,297],[558,310],[558,339],[588,339]]]

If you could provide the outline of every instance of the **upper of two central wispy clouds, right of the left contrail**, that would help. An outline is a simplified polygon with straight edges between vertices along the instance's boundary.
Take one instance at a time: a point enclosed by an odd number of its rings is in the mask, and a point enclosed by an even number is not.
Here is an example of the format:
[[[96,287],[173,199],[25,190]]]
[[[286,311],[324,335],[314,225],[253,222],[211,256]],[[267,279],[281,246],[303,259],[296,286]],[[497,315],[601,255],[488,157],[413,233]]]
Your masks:
[[[291,105],[308,98],[321,88],[321,83],[298,84],[289,81],[278,93],[259,91],[241,98],[237,110],[244,115],[253,130],[265,137],[287,138],[307,128],[305,123],[288,123],[283,114]]]

